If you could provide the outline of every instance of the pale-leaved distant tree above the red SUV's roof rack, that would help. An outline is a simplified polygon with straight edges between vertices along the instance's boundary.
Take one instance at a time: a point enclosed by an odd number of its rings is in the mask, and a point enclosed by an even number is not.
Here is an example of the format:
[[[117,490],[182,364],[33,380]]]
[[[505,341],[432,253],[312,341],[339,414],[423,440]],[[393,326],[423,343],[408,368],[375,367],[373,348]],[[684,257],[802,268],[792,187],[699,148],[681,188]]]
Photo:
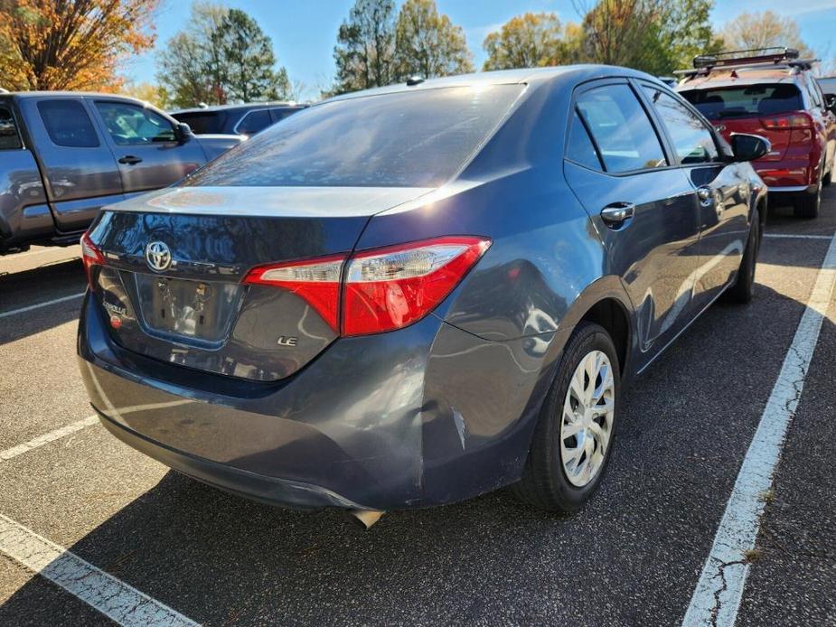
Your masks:
[[[814,56],[802,41],[798,23],[772,11],[739,14],[723,26],[720,37],[727,51],[786,46],[798,50],[803,58]]]

